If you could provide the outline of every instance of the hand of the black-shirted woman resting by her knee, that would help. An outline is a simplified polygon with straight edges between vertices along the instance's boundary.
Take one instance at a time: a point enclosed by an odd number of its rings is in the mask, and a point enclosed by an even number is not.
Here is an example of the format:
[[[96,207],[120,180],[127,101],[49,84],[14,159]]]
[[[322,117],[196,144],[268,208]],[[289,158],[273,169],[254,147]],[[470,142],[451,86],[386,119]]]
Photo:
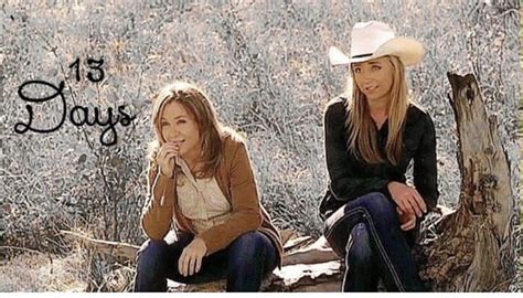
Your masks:
[[[427,212],[427,205],[416,189],[396,181],[389,182],[387,189],[403,213],[412,213],[421,217],[423,213]]]

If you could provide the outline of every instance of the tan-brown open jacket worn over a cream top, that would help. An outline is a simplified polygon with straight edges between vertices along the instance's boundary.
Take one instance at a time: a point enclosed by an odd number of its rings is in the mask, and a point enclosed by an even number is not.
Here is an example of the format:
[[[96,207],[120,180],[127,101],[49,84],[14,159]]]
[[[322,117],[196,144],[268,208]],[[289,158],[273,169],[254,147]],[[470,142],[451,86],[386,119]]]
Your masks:
[[[175,227],[202,238],[207,247],[207,255],[227,247],[246,232],[259,231],[275,244],[279,254],[279,266],[281,266],[284,255],[281,236],[270,222],[269,214],[259,203],[245,142],[227,134],[223,137],[222,143],[223,156],[216,172],[216,181],[233,207],[227,221],[200,234],[195,233],[191,221],[180,212],[175,178],[168,178],[159,173],[158,167],[150,167],[147,183],[150,200],[141,216],[143,231],[151,240],[163,240],[171,228],[174,215]],[[162,205],[160,201],[163,201]]]

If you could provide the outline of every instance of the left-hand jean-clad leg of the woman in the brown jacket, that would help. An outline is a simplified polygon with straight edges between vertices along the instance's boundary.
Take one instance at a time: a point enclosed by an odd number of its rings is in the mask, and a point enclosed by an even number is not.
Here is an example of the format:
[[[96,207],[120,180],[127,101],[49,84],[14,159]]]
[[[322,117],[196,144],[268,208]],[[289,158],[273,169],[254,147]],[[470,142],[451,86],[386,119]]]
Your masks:
[[[192,235],[180,233],[171,244],[148,240],[138,252],[135,291],[167,291],[167,278],[178,273],[178,258],[192,241]]]

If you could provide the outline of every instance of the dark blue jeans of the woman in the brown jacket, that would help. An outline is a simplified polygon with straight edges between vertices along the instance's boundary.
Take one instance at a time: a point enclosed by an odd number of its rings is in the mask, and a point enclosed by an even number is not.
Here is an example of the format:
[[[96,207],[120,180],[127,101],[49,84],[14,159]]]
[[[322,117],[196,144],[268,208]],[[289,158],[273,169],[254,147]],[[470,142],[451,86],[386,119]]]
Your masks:
[[[260,232],[238,236],[226,248],[203,257],[198,274],[182,276],[178,259],[193,240],[180,233],[171,244],[148,240],[138,252],[135,291],[167,291],[167,278],[182,284],[202,284],[227,279],[227,291],[258,291],[262,280],[277,265],[273,242]]]

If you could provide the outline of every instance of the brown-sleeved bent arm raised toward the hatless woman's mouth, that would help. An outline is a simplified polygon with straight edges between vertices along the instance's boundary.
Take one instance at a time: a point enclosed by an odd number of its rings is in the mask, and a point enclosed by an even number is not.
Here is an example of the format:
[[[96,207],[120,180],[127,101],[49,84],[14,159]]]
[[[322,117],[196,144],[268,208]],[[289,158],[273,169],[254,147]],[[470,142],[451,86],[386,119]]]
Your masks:
[[[141,226],[151,240],[163,240],[171,228],[175,180],[163,175],[158,167],[149,167],[147,175],[148,204],[141,214]]]

